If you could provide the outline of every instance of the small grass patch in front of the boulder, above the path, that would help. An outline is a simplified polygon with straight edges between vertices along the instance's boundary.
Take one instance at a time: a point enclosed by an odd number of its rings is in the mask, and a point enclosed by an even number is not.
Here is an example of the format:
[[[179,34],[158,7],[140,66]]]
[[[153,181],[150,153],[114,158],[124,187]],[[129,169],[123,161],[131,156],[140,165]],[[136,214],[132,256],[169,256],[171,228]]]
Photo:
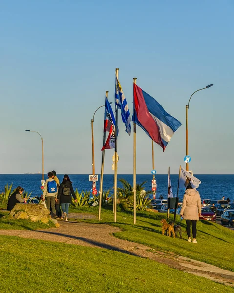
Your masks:
[[[1,230],[36,230],[55,227],[52,221],[48,224],[32,222],[30,220],[15,220],[8,217],[9,212],[0,211],[0,229]],[[4,217],[5,216],[5,217]]]

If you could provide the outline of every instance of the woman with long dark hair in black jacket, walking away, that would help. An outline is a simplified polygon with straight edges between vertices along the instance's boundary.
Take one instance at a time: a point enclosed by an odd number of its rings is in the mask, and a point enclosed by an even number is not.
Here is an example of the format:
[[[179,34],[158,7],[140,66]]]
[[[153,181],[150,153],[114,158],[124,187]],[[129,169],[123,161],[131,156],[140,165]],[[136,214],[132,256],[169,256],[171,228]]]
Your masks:
[[[59,186],[58,200],[61,205],[61,209],[64,213],[64,221],[68,222],[68,211],[71,203],[71,195],[77,202],[75,192],[72,187],[72,182],[68,175],[64,175],[63,182]]]

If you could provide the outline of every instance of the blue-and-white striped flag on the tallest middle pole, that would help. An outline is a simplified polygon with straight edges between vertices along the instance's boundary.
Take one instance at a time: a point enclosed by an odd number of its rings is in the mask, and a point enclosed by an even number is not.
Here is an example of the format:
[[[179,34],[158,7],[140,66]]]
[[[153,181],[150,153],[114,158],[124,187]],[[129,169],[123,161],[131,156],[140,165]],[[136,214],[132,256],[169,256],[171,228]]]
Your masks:
[[[128,109],[128,104],[124,96],[122,87],[115,76],[115,105],[120,108],[122,121],[125,124],[125,131],[130,135],[131,134],[131,116]]]

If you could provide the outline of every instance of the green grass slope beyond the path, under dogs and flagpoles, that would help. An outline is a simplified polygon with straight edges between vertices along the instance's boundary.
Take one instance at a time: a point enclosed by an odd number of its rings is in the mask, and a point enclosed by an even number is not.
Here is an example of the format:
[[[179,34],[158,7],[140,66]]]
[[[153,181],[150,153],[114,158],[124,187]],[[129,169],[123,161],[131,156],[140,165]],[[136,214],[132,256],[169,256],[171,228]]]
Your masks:
[[[96,210],[95,213],[97,212]],[[74,211],[75,209],[73,209]],[[88,209],[80,209],[78,211],[88,212]],[[174,252],[175,254],[213,264],[234,272],[234,231],[208,221],[198,221],[198,244],[196,245],[187,242],[185,221],[180,223],[183,230],[183,239],[162,236],[160,220],[165,217],[166,214],[161,213],[149,214],[147,212],[138,212],[136,225],[134,226],[131,213],[119,212],[117,213],[117,223],[114,224],[112,211],[102,209],[101,223],[121,228],[121,232],[114,234],[120,239],[145,244],[158,251]],[[170,217],[172,218],[172,215]],[[179,217],[177,219],[179,220]],[[98,223],[97,220],[81,221]]]

